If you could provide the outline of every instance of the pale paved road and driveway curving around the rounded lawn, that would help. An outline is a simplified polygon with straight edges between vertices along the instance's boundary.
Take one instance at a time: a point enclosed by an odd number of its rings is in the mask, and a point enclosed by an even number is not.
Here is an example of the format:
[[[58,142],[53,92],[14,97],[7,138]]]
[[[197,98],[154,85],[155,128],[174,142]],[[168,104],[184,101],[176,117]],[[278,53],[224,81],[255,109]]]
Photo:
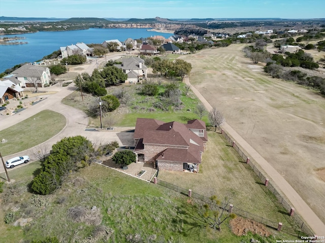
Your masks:
[[[111,55],[107,60],[110,59],[118,59],[120,55]],[[102,62],[105,62],[105,57],[100,58],[98,60],[98,64],[100,65]],[[97,63],[94,61],[91,64],[85,65],[83,69],[79,68],[77,70],[74,70],[74,72],[88,72],[89,74],[92,73],[92,70],[96,68]],[[72,80],[71,80],[72,81]],[[100,143],[109,143],[112,141],[118,141],[121,146],[134,146],[134,139],[133,134],[129,132],[124,132],[132,128],[125,128],[125,129],[118,129],[113,131],[103,131],[103,132],[89,132],[85,131],[87,125],[88,125],[88,117],[87,115],[76,108],[73,108],[68,105],[64,105],[61,103],[61,100],[74,92],[76,90],[75,85],[72,83],[68,87],[60,87],[59,85],[51,86],[49,88],[39,88],[41,91],[57,91],[57,93],[52,95],[46,95],[44,96],[43,101],[39,102],[36,105],[33,105],[15,115],[12,116],[6,116],[1,117],[1,127],[0,131],[7,129],[13,125],[16,125],[17,123],[27,119],[28,117],[35,115],[39,113],[42,110],[48,109],[56,111],[62,115],[64,115],[67,119],[67,124],[63,128],[63,130],[56,134],[54,137],[50,138],[49,140],[42,143],[42,146],[45,146],[47,148],[51,148],[53,144],[55,144],[57,141],[61,140],[64,137],[71,137],[76,135],[81,135],[89,139],[91,142],[93,142],[95,145]],[[45,99],[46,98],[46,99]],[[28,128],[26,128],[28,129]],[[133,128],[134,129],[134,128]],[[21,151],[16,154],[11,154],[4,157],[4,160],[8,160],[9,158],[26,154],[29,155],[31,158],[31,161],[33,161],[35,158],[32,157],[32,154],[34,151],[36,151],[38,146],[32,147],[30,149],[27,149],[25,151]],[[24,165],[21,165],[24,166]],[[19,167],[21,167],[19,166]],[[15,168],[19,168],[15,167]],[[15,169],[14,168],[14,169]],[[13,169],[10,169],[13,170]],[[10,171],[9,170],[9,171]],[[3,166],[0,166],[0,173],[4,172]]]

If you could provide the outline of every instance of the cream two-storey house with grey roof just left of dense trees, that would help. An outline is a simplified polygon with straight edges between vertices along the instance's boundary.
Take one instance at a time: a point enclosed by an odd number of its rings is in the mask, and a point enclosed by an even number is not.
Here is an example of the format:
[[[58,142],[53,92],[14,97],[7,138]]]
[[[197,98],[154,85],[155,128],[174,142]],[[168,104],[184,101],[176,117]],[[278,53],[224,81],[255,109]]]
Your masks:
[[[142,79],[147,77],[147,67],[144,60],[139,57],[130,57],[121,59],[122,64],[114,64],[114,66],[123,70],[127,74],[126,84],[142,84]]]

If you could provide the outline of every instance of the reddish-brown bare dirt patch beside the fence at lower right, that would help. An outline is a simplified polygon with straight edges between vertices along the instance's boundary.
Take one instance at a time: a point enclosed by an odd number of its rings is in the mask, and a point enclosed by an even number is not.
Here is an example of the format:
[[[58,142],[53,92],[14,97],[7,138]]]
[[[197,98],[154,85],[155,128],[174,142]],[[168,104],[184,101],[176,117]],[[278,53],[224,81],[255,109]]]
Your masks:
[[[230,221],[230,227],[232,229],[232,232],[237,236],[246,235],[248,232],[252,232],[263,237],[268,237],[271,235],[270,231],[268,231],[263,224],[257,223],[251,219],[244,219],[241,217],[232,219]]]

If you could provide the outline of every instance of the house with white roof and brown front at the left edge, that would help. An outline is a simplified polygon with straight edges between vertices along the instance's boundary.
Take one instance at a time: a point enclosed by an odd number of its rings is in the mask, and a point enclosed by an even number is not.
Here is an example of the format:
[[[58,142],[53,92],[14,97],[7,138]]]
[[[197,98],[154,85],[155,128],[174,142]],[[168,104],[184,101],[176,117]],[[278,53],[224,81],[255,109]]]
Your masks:
[[[0,104],[4,104],[7,100],[24,97],[23,91],[21,87],[15,85],[8,79],[0,81]]]

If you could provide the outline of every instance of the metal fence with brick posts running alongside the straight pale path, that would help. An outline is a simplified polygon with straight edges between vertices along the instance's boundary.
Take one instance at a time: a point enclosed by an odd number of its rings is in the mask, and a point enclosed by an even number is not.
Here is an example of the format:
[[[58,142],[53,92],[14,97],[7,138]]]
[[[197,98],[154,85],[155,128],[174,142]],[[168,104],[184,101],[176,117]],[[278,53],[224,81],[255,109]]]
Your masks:
[[[219,128],[219,131],[221,132],[221,134],[223,135],[223,137],[225,138],[225,140],[227,142],[229,142],[230,144],[232,144],[233,148],[238,152],[238,154],[244,159],[244,161],[247,162],[247,158],[248,156],[244,153],[244,151],[242,151],[238,145],[236,144],[236,142],[234,142],[234,140],[228,135],[226,134],[223,130],[221,130]],[[261,172],[255,165],[256,165],[256,161],[254,161],[253,159],[249,159],[249,163],[248,165],[253,169],[254,173],[256,174],[256,176],[263,182],[265,183],[265,180],[267,179],[263,172]],[[285,208],[285,210],[289,213],[290,209],[292,208],[292,206],[290,206],[290,204],[285,200],[285,198],[277,191],[277,189],[272,185],[272,182],[269,182],[267,184],[267,187],[269,188],[269,190],[275,195],[275,197],[278,199],[279,203],[283,206],[283,208]],[[307,235],[314,235],[313,231],[308,227],[308,225],[302,220],[302,218],[295,212],[295,214],[293,215],[293,219],[295,220],[295,222],[298,224],[299,228],[306,233]],[[258,221],[257,221],[258,222]],[[288,228],[288,227],[284,227],[284,228]],[[289,230],[288,230],[289,231]],[[296,232],[296,231],[295,231]],[[300,231],[299,231],[300,232]],[[296,235],[296,233],[294,234]],[[300,234],[301,235],[301,234]],[[298,236],[300,236],[298,235]]]

